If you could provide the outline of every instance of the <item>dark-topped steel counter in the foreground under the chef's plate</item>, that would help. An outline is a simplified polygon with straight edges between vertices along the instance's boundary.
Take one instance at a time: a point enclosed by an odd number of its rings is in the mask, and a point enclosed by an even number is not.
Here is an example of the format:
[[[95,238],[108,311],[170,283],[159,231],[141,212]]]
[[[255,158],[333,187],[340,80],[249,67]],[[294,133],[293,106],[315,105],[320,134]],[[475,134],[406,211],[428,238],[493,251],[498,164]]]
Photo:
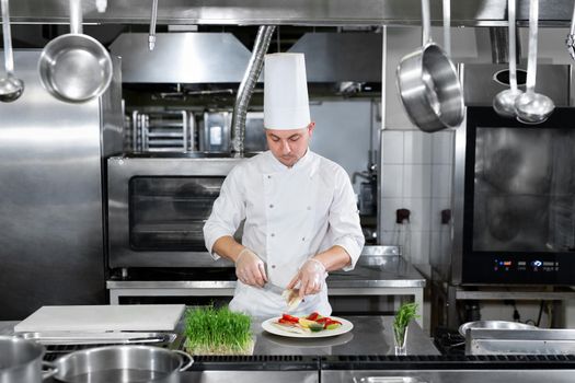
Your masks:
[[[331,339],[320,339],[318,343],[302,341],[304,339],[276,338],[263,333],[261,320],[254,318],[253,332],[256,336],[254,353],[251,359],[215,357],[208,360],[196,358],[199,368],[183,372],[180,375],[182,383],[318,383],[318,382],[355,382],[361,378],[373,381],[413,381],[413,382],[496,382],[496,383],[536,383],[542,380],[549,382],[567,383],[573,381],[573,361],[563,358],[545,360],[551,362],[552,369],[545,362],[533,365],[536,361],[519,357],[522,362],[514,359],[506,360],[498,356],[490,360],[473,359],[467,363],[464,359],[445,359],[439,356],[432,341],[423,334],[417,324],[412,323],[407,337],[407,353],[410,359],[378,359],[390,358],[393,353],[391,335],[391,316],[348,316],[354,323],[349,333]],[[0,322],[0,335],[13,334],[13,326],[18,322]],[[183,322],[180,323],[182,325]],[[337,340],[338,339],[338,340]],[[416,357],[416,356],[424,357]],[[264,357],[261,357],[264,356]],[[299,358],[317,360],[311,365],[302,364]],[[369,358],[357,358],[369,356]],[[436,357],[434,357],[436,356]],[[319,358],[315,358],[319,357]],[[334,358],[335,357],[335,358]],[[248,357],[246,357],[248,358]],[[393,357],[391,357],[393,358]],[[435,359],[437,358],[437,359]],[[511,356],[510,358],[514,358]],[[291,362],[294,361],[294,362]],[[419,361],[419,362],[417,362]],[[433,361],[429,363],[429,361]],[[321,368],[320,368],[321,362]],[[200,365],[204,363],[204,365]],[[209,363],[212,363],[211,365]],[[222,365],[229,363],[228,367]],[[306,362],[308,363],[308,362]],[[318,363],[318,364],[315,364]],[[515,363],[515,365],[513,364]],[[453,367],[456,365],[456,367]],[[525,367],[524,367],[525,365]],[[375,376],[375,378],[372,378]],[[384,378],[386,376],[386,378]],[[368,380],[369,381],[369,380]],[[53,382],[48,380],[47,382]]]

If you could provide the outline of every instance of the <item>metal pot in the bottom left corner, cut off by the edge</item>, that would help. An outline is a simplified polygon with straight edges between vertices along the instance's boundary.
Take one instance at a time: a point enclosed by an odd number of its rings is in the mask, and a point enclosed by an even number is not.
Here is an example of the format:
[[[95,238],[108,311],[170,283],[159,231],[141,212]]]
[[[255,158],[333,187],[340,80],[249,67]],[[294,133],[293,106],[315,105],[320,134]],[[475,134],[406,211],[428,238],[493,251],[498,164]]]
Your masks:
[[[38,383],[54,375],[54,364],[43,362],[44,347],[15,336],[0,336],[0,383]],[[48,371],[42,372],[42,367]]]

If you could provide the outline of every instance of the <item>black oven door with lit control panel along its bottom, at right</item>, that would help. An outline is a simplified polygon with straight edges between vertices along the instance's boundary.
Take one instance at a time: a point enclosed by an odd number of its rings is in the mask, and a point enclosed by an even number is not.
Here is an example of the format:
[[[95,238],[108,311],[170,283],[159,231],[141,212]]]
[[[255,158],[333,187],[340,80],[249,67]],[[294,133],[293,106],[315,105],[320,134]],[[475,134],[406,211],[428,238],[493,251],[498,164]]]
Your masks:
[[[573,121],[574,108],[536,126],[468,108],[462,285],[575,283]]]

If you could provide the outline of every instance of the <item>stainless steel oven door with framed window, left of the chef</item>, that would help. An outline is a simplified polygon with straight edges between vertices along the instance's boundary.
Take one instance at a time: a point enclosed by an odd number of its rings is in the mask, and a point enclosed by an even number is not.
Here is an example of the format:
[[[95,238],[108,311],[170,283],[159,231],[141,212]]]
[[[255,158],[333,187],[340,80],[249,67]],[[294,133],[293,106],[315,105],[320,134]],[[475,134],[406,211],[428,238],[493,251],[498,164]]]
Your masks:
[[[203,228],[221,184],[241,159],[111,158],[111,268],[214,267]]]

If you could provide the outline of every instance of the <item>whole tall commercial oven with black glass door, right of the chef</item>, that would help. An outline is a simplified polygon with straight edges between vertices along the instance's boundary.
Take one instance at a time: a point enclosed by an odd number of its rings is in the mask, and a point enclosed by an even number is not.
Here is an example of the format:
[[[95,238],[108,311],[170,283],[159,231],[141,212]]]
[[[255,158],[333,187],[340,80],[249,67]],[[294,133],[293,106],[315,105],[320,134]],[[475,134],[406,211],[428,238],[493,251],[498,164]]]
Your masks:
[[[556,108],[543,124],[499,117],[506,66],[462,66],[465,120],[456,130],[452,249],[432,259],[450,286],[575,285],[575,108],[571,66],[538,66]],[[561,85],[559,85],[561,84]]]

